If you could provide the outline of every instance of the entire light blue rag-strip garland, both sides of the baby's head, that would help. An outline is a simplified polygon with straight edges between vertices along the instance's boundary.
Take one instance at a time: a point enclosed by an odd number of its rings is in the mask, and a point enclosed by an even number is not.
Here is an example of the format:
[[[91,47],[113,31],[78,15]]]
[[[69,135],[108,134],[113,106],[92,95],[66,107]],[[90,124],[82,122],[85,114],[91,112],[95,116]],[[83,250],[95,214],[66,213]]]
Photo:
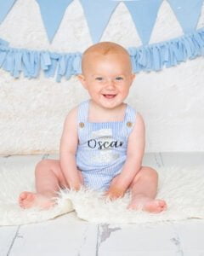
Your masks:
[[[159,71],[163,67],[173,67],[182,61],[204,55],[204,28],[180,38],[127,49],[131,56],[133,73]],[[49,51],[15,49],[0,39],[0,67],[14,78],[20,73],[28,79],[36,79],[42,70],[47,78],[56,76],[70,79],[81,73],[82,53],[59,54]]]

